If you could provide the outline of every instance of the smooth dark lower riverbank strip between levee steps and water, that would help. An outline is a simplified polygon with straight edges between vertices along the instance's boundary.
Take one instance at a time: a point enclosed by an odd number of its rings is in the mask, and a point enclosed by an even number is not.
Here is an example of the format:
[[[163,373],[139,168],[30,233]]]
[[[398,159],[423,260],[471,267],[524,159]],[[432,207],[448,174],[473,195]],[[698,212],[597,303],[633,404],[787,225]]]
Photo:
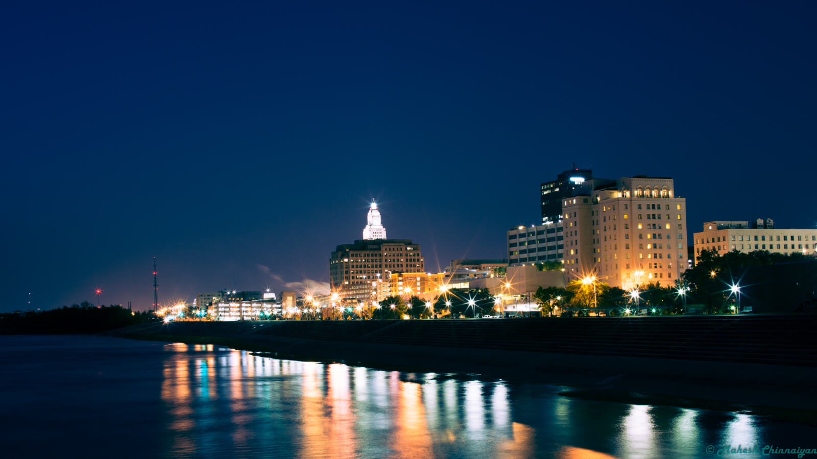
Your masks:
[[[225,345],[279,359],[335,361],[369,368],[437,372],[520,383],[544,382],[565,385],[565,395],[579,398],[724,411],[751,410],[817,424],[817,402],[810,395],[817,382],[817,368],[814,367],[446,347],[422,345],[416,341],[393,344],[366,341],[373,332],[362,329],[364,333],[356,336],[357,341],[350,341],[348,332],[344,334],[337,330],[334,335],[322,336],[324,339],[305,339],[285,336],[291,330],[284,331],[276,328],[278,326],[277,323],[253,322],[216,326],[212,323],[207,326],[174,323],[172,327],[141,326],[113,334],[154,341]],[[391,326],[392,333],[397,333],[394,324],[366,326],[377,331]],[[455,327],[464,326],[467,324]],[[286,327],[303,332],[301,328],[315,326],[290,323]],[[318,327],[333,330],[342,326]],[[488,341],[481,344],[491,345]]]

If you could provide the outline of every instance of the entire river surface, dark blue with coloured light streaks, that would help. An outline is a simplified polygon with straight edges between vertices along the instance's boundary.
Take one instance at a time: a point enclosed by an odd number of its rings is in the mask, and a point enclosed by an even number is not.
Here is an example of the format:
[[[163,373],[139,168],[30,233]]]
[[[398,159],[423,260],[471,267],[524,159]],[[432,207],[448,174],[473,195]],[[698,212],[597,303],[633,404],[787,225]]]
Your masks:
[[[765,445],[817,448],[813,426],[561,390],[218,345],[0,336],[0,455],[717,457],[731,445],[756,452],[725,457],[762,457]]]

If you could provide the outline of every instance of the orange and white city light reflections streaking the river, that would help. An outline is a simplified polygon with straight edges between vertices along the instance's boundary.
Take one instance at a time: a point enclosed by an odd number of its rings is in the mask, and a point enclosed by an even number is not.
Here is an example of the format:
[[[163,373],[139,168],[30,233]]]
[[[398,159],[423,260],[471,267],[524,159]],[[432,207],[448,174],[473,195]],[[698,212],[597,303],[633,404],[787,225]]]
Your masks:
[[[761,441],[734,413],[569,399],[548,385],[386,372],[167,345],[172,454],[221,457],[706,457],[712,437]]]

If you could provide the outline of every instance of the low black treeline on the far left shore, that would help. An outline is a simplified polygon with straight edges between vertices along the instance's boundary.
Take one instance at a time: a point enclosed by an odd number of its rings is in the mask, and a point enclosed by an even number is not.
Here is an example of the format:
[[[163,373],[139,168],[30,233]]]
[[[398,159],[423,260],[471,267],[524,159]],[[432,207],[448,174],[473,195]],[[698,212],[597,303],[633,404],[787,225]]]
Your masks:
[[[132,313],[119,305],[96,307],[83,302],[82,305],[63,306],[55,310],[2,313],[0,334],[96,333],[145,323],[154,317],[152,312]]]

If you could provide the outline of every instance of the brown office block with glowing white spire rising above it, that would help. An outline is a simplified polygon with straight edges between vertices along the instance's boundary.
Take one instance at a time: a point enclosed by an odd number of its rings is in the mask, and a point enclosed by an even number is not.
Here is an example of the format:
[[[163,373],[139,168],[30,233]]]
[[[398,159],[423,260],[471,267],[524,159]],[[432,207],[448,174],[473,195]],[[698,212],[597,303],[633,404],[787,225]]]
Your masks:
[[[377,237],[380,234],[382,238]],[[375,301],[382,283],[388,284],[392,273],[424,271],[420,244],[411,239],[386,239],[375,203],[368,211],[364,239],[341,244],[329,256],[331,287],[343,300]]]

